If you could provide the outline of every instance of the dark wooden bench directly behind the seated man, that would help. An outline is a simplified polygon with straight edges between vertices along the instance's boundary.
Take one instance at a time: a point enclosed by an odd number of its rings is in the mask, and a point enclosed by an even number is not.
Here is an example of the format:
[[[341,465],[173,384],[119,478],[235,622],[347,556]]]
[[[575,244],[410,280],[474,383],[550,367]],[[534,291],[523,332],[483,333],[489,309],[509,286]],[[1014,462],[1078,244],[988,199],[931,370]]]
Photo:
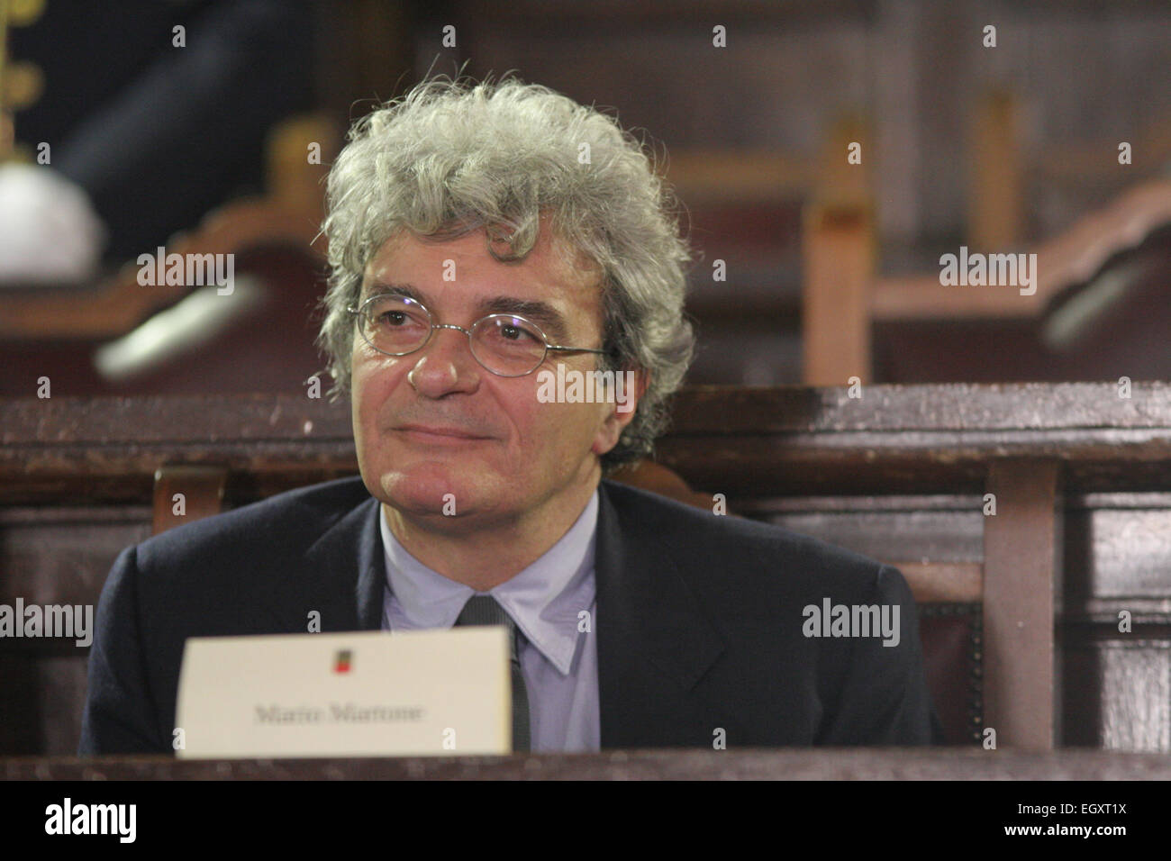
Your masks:
[[[953,742],[1171,750],[1171,387],[855,394],[687,390],[659,462],[692,504],[898,566]],[[348,406],[296,396],[4,401],[0,435],[9,604],[96,602],[176,493],[191,519],[356,472]],[[0,752],[74,749],[84,650],[0,641]]]

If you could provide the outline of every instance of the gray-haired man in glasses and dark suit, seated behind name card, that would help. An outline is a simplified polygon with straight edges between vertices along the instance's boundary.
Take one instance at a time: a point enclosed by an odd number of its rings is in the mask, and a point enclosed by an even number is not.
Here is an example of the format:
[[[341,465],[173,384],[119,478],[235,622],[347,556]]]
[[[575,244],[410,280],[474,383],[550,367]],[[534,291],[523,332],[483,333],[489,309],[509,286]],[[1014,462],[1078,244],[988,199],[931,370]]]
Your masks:
[[[686,247],[611,118],[514,80],[420,84],[352,130],[324,231],[362,478],[123,552],[82,752],[171,750],[186,637],[314,611],[509,626],[521,749],[936,738],[898,572],[603,480],[649,453],[692,350]],[[550,383],[587,375],[604,397]],[[823,606],[893,626],[823,636]]]

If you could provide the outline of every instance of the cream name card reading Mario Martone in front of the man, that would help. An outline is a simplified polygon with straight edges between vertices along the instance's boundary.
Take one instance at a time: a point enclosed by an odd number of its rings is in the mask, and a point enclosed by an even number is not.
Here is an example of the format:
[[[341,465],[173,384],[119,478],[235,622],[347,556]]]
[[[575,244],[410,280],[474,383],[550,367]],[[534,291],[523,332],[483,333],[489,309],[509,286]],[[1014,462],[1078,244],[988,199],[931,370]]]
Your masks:
[[[511,753],[508,635],[193,637],[176,724],[191,759]]]

